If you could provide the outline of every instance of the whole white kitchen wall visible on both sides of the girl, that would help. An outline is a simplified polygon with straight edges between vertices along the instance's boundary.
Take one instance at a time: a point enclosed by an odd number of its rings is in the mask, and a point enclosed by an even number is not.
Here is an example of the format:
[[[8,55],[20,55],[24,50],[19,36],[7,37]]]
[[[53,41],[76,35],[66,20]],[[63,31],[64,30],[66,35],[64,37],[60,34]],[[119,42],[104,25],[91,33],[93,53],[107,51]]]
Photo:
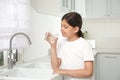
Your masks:
[[[39,14],[31,9],[32,45],[25,49],[25,61],[48,54],[49,45],[44,40],[46,31],[58,33],[61,17]],[[83,19],[83,31],[89,33],[88,39],[96,40],[97,49],[120,49],[120,19]]]

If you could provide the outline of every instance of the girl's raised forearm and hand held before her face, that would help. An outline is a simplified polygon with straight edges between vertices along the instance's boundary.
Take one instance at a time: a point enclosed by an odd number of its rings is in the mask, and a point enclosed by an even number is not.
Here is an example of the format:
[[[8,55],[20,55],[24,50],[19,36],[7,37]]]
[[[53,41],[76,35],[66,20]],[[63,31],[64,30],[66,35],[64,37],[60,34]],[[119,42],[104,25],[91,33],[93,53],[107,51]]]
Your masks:
[[[57,57],[57,52],[56,52],[56,45],[57,45],[57,40],[58,38],[53,36],[51,33],[46,32],[45,34],[45,39],[48,41],[50,44],[50,53],[51,53],[51,65],[53,71],[56,71],[59,69],[61,60]]]

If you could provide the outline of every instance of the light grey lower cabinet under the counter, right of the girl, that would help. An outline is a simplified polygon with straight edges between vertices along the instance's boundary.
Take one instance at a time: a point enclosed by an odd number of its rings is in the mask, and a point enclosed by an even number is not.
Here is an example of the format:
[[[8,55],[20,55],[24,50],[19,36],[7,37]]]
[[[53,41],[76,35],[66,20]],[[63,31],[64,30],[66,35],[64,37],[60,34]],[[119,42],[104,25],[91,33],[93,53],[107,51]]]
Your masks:
[[[120,53],[98,53],[95,80],[120,80]]]

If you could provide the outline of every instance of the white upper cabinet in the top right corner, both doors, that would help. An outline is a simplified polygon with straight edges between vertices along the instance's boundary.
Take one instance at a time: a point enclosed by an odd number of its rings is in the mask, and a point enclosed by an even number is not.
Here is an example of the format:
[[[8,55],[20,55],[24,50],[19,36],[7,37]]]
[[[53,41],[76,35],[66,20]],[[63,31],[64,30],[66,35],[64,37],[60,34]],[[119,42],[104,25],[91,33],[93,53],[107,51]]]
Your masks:
[[[87,17],[120,18],[120,0],[86,0]]]

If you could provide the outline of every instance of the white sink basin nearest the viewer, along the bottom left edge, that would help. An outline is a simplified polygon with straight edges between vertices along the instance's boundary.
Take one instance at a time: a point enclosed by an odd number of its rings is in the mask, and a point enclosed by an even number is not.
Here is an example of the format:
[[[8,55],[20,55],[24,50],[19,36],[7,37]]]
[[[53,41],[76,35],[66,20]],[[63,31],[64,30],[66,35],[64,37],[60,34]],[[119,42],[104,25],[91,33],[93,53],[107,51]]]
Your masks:
[[[14,79],[16,78],[16,80],[20,78],[22,78],[21,80],[60,80],[60,76],[58,74],[52,74],[52,70],[30,68],[14,68],[0,74],[0,77]]]

